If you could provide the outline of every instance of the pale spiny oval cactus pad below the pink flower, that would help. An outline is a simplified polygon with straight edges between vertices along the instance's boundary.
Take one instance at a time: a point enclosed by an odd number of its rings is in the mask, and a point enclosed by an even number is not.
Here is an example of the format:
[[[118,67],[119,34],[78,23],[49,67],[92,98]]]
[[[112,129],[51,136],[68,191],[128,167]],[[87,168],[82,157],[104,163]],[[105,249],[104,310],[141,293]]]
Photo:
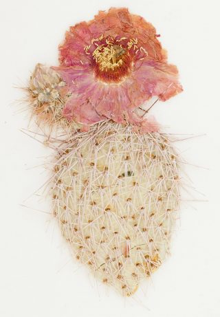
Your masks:
[[[54,167],[54,215],[78,261],[129,296],[169,252],[179,208],[166,135],[100,122],[72,136]]]

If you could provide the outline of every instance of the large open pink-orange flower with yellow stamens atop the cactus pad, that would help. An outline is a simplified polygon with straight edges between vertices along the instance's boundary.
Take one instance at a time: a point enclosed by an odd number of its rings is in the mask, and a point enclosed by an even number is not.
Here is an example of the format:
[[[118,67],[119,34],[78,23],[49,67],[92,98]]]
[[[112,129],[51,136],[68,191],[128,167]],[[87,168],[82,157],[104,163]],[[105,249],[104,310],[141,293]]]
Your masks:
[[[157,37],[151,23],[126,8],[72,26],[59,47],[61,65],[53,67],[72,93],[63,115],[83,124],[109,118],[157,131],[157,123],[135,109],[152,96],[167,100],[182,91],[177,67],[167,63]]]

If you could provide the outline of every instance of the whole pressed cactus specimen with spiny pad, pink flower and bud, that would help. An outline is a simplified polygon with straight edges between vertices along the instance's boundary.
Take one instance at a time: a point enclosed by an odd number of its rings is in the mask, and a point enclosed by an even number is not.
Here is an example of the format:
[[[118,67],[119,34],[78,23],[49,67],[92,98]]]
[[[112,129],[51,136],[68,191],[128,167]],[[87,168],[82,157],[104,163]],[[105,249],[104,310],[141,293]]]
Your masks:
[[[62,234],[124,296],[166,258],[179,210],[178,156],[142,108],[182,90],[157,37],[125,8],[99,12],[69,29],[60,65],[36,65],[28,87],[39,124],[69,129],[52,179]]]

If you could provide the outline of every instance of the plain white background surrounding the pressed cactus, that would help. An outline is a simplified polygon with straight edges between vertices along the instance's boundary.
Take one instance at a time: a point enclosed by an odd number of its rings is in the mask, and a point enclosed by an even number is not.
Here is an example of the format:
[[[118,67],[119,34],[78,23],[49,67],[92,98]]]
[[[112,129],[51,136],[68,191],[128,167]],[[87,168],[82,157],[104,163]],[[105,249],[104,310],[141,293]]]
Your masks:
[[[2,317],[220,316],[218,3],[214,0],[2,1]],[[57,46],[69,25],[93,19],[98,10],[110,6],[129,7],[131,12],[151,21],[157,33],[162,34],[160,39],[168,50],[169,61],[179,68],[184,93],[166,104],[157,102],[153,109],[157,120],[169,127],[170,133],[205,134],[177,142],[189,163],[184,171],[192,186],[205,194],[192,191],[192,195],[195,200],[204,201],[183,202],[172,256],[152,281],[142,283],[133,298],[125,299],[96,283],[85,268],[76,266],[56,221],[50,217],[50,204],[41,197],[33,201],[36,195],[32,194],[47,180],[43,163],[52,152],[21,133],[21,128],[28,127],[28,119],[25,112],[17,111],[16,100],[22,98],[22,93],[14,88],[25,85],[36,63],[57,65]]]

